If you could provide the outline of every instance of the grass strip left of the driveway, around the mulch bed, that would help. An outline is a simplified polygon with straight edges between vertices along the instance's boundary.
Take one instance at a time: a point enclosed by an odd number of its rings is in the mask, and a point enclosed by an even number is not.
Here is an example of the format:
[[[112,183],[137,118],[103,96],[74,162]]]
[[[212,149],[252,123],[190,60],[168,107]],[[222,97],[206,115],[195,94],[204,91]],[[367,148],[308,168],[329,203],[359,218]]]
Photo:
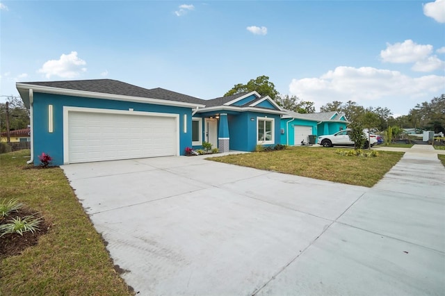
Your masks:
[[[51,228],[38,245],[0,259],[0,295],[133,295],[63,171],[24,169],[26,155],[0,155],[0,196],[39,211]]]

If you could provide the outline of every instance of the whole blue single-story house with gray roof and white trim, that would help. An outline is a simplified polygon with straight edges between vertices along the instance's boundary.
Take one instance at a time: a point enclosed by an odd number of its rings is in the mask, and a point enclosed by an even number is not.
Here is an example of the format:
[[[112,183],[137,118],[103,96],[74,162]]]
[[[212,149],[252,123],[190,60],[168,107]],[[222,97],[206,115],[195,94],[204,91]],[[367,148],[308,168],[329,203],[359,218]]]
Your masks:
[[[280,143],[284,111],[257,92],[211,100],[111,79],[16,83],[31,113],[31,160],[53,165],[184,155]]]

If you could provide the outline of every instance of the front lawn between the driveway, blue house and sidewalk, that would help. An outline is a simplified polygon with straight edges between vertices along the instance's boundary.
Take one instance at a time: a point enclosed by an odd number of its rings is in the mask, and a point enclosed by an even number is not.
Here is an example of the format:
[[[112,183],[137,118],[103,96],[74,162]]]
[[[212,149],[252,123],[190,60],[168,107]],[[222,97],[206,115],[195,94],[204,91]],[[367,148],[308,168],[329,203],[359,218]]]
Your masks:
[[[260,170],[372,187],[403,156],[402,152],[378,151],[378,157],[341,156],[333,148],[290,147],[272,152],[252,152],[207,158]]]

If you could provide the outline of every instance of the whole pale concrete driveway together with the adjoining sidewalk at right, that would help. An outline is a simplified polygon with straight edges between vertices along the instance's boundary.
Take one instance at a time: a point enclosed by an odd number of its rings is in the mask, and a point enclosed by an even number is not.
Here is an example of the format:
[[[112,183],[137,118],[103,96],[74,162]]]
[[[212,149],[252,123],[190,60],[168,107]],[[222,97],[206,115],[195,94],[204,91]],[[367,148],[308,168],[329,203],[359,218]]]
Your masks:
[[[444,295],[445,170],[426,152],[373,188],[198,156],[63,170],[138,295]]]

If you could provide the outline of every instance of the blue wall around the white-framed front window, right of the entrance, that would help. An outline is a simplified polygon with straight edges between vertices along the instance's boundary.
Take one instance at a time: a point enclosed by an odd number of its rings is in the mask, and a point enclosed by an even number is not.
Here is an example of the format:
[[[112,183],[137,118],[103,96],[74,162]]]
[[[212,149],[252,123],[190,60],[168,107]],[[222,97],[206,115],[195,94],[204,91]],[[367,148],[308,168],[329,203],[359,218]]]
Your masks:
[[[275,119],[275,144],[273,145],[280,144],[280,115],[243,112],[228,117],[231,150],[254,151],[257,146],[257,117]],[[252,118],[253,120],[251,120]]]

